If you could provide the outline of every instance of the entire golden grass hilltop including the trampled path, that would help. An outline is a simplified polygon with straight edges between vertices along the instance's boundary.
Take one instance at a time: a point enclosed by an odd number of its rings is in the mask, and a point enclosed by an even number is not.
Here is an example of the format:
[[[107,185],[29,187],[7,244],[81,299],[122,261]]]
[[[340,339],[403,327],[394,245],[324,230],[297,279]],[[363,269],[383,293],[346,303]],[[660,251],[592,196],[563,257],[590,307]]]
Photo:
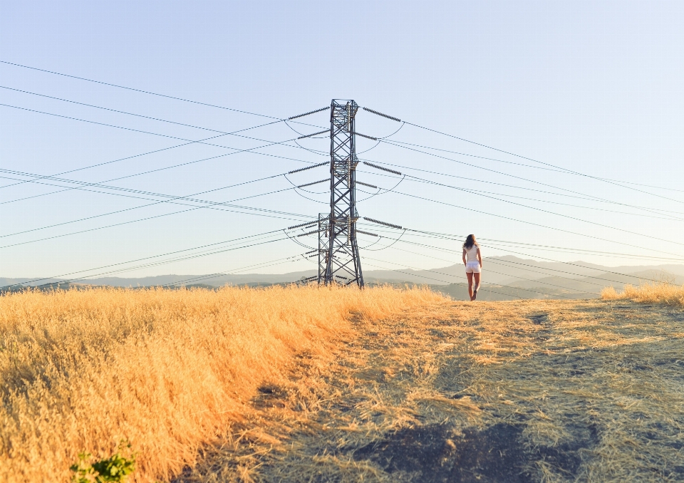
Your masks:
[[[0,482],[684,481],[684,289],[0,296]]]

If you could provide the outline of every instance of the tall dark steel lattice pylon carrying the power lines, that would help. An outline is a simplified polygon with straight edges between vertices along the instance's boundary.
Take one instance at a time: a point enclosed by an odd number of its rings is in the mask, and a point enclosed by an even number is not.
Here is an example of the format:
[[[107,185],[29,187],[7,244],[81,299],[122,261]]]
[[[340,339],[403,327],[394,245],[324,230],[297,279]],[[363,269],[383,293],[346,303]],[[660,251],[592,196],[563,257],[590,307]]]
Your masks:
[[[326,267],[323,283],[363,287],[356,244],[356,140],[354,118],[358,104],[333,99],[330,110],[330,214],[327,223]],[[319,237],[325,236],[319,234]],[[323,267],[321,266],[321,269]]]

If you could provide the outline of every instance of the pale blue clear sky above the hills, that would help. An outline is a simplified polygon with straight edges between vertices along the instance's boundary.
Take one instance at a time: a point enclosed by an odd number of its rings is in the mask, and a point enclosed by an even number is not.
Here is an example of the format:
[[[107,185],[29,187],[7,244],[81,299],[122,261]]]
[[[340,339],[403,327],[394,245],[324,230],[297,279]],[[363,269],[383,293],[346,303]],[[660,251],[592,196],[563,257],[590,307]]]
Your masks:
[[[418,230],[364,224],[366,270],[460,263],[470,233],[484,256],[681,263],[683,21],[680,1],[0,0],[0,276],[315,268],[315,237],[282,230],[328,211],[325,184],[294,189],[326,168],[282,174],[329,159],[292,141],[328,113],[281,120],[333,98],[402,120],[356,118],[383,137],[358,157],[402,173],[361,165],[359,214]]]

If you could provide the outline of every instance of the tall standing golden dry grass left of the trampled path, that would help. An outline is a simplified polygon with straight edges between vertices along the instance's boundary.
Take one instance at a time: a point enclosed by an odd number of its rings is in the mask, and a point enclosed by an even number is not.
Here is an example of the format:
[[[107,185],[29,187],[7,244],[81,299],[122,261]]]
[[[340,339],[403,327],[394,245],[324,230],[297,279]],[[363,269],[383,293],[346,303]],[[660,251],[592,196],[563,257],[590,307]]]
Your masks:
[[[135,482],[169,479],[217,441],[271,447],[276,426],[253,424],[251,400],[286,381],[294,355],[330,360],[353,338],[352,314],[440,301],[306,287],[0,296],[0,481],[66,481],[79,451],[108,456],[123,438],[139,453]]]

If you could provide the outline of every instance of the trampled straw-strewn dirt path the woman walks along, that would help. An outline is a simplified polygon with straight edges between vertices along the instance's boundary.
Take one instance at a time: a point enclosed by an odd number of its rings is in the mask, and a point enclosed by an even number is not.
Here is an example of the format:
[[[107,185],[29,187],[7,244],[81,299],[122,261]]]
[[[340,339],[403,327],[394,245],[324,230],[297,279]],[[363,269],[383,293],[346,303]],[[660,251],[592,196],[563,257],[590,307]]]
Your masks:
[[[177,481],[684,481],[681,309],[454,302],[354,324]]]

